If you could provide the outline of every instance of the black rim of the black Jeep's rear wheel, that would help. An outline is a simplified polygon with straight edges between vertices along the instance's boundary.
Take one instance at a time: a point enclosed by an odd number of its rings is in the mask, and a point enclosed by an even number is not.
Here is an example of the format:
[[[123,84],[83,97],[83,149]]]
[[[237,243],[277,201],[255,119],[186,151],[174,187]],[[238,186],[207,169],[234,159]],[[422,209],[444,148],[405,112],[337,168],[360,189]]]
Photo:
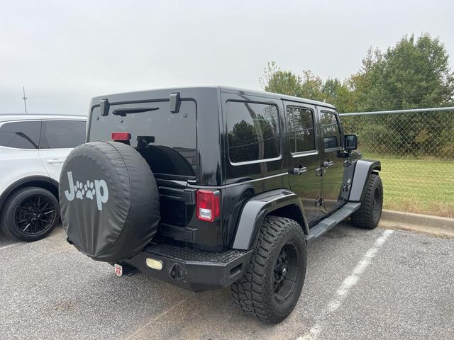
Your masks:
[[[273,289],[279,302],[287,300],[298,276],[299,254],[297,247],[289,242],[282,246],[274,268]]]

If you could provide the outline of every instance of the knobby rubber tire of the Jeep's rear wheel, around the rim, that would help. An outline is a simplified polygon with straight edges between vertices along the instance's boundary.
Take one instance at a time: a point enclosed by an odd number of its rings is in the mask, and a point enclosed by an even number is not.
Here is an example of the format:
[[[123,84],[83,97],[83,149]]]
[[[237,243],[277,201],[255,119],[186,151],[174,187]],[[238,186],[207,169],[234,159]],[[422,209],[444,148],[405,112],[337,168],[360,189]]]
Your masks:
[[[284,245],[292,243],[299,253],[297,280],[284,301],[275,296],[275,264]],[[231,285],[233,301],[245,314],[276,324],[297,305],[306,275],[306,239],[301,226],[289,218],[267,216],[243,278]]]

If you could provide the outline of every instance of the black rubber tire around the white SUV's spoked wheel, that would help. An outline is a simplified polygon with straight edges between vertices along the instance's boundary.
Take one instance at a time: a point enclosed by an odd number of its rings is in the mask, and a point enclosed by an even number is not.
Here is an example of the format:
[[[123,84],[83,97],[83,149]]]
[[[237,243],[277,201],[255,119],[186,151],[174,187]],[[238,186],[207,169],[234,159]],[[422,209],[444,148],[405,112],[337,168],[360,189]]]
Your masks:
[[[51,207],[55,213],[52,214],[48,226],[45,229],[36,234],[28,234],[26,232],[22,232],[16,224],[16,210],[18,209],[18,206],[24,202],[24,200],[33,196],[43,196],[46,200],[48,200],[48,207]],[[4,207],[1,210],[0,218],[1,229],[6,236],[26,242],[38,241],[38,239],[43,239],[48,236],[59,221],[60,210],[57,198],[55,198],[50,191],[35,186],[21,188],[11,193],[11,195],[6,199]]]

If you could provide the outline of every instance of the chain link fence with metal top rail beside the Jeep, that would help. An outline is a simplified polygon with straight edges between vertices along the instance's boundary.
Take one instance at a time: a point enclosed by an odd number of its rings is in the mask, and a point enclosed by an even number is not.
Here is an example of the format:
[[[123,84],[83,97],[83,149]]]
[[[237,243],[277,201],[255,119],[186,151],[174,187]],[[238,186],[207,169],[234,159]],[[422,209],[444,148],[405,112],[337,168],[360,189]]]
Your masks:
[[[384,208],[454,217],[454,108],[341,114],[363,157],[382,162]]]

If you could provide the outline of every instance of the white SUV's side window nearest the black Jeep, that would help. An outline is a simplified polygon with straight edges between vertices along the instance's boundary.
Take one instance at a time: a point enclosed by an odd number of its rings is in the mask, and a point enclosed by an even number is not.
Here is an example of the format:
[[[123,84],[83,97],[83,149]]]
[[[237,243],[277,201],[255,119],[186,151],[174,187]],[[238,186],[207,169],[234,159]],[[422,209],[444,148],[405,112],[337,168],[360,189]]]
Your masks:
[[[43,121],[40,149],[77,147],[85,140],[85,122],[82,120]]]

